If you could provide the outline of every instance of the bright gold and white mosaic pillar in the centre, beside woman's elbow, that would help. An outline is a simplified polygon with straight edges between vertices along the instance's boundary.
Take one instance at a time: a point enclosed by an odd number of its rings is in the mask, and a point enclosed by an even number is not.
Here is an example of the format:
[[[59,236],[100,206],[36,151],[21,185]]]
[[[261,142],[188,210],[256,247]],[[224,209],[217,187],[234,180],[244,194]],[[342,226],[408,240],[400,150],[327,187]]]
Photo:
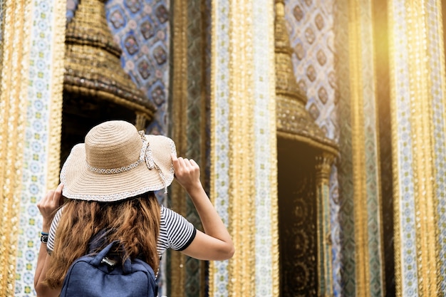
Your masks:
[[[278,296],[273,3],[212,1],[211,199],[235,255],[210,296]]]

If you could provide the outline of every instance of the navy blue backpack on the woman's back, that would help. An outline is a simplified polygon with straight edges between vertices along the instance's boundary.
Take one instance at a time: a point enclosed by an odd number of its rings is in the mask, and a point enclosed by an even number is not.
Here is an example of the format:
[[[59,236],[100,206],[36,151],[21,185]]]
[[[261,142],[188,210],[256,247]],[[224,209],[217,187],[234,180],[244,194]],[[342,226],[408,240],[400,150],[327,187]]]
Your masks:
[[[95,255],[76,259],[63,281],[61,297],[156,297],[152,267],[140,259],[123,264],[108,257],[119,241],[113,241]]]

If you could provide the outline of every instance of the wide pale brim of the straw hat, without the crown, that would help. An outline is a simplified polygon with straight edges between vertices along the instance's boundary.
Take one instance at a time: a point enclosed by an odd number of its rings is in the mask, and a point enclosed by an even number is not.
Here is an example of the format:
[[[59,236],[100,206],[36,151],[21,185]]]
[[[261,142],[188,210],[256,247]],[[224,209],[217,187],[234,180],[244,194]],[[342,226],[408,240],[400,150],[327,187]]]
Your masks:
[[[162,135],[145,135],[157,168],[149,169],[145,162],[131,170],[100,174],[88,168],[85,145],[75,145],[61,170],[63,196],[69,199],[114,202],[145,192],[167,188],[174,179],[171,154],[176,155],[175,143]]]

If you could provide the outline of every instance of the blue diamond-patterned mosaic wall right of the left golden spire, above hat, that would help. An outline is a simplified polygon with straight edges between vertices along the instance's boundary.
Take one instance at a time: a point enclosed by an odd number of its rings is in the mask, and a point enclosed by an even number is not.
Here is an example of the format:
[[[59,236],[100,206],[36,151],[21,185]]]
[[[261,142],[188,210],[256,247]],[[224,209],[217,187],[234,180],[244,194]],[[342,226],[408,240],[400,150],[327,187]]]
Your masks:
[[[121,63],[133,82],[157,108],[147,132],[166,135],[169,88],[169,1],[110,0],[105,14]]]

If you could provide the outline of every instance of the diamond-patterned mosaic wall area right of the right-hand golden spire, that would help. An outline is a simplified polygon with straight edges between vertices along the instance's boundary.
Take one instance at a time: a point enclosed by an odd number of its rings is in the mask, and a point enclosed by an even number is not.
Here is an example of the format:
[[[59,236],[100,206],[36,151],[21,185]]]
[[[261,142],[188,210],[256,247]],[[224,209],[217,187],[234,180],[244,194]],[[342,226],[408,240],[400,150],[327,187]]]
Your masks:
[[[336,118],[336,74],[333,54],[334,1],[286,0],[296,81],[306,93],[306,109],[326,132],[338,140]]]

